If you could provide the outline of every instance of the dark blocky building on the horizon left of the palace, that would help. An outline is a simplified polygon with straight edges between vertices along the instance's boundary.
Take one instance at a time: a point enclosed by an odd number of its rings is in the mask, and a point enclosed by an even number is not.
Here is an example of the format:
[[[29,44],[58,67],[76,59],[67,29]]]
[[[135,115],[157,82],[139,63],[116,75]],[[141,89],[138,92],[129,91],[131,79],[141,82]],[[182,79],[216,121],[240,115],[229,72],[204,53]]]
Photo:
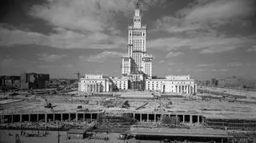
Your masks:
[[[50,82],[49,74],[22,73],[21,89],[44,89]]]

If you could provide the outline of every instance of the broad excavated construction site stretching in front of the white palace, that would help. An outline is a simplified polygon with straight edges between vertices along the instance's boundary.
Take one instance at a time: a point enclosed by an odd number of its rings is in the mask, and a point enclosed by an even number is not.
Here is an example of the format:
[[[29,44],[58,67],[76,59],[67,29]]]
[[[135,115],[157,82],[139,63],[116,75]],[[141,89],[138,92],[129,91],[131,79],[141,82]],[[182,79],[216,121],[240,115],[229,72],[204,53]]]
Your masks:
[[[0,128],[84,129],[94,133],[130,133],[137,138],[152,136],[160,139],[174,135],[154,134],[155,130],[145,134],[142,130],[183,129],[201,137],[198,129],[213,129],[226,133],[226,137],[220,136],[218,141],[227,142],[227,138],[237,137],[235,133],[253,140],[256,135],[256,93],[226,90],[229,93],[202,87],[197,95],[126,91],[83,97],[76,96],[74,91],[5,93],[0,101]],[[193,134],[192,130],[197,131]]]

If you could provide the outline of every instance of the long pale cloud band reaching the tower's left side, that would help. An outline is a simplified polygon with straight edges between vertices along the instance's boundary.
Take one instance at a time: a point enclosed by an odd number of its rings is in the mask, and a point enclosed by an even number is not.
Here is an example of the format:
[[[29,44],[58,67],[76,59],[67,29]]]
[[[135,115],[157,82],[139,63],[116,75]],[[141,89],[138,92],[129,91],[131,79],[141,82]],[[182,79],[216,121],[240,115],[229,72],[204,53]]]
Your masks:
[[[0,39],[0,46],[32,44],[60,49],[116,49],[126,46],[126,38],[102,33],[82,34],[60,27],[45,35],[0,25]]]

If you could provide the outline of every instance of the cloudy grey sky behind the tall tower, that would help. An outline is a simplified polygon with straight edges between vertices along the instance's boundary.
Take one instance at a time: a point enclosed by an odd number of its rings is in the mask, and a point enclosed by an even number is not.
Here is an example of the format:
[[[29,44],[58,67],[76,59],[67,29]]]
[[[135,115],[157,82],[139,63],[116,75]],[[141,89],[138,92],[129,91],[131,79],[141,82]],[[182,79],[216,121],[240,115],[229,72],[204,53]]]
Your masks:
[[[153,75],[256,79],[254,0],[141,0]],[[0,74],[121,77],[134,0],[2,0]]]

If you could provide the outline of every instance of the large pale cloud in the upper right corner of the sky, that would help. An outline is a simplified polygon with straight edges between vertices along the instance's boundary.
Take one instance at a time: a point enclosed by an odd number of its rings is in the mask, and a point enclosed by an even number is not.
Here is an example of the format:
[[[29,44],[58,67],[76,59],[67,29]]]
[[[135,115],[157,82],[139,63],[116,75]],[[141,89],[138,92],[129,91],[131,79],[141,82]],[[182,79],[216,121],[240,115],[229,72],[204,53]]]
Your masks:
[[[254,0],[195,1],[179,10],[175,16],[163,16],[154,30],[181,33],[191,30],[214,30],[227,24],[246,25],[245,18],[254,15]]]

